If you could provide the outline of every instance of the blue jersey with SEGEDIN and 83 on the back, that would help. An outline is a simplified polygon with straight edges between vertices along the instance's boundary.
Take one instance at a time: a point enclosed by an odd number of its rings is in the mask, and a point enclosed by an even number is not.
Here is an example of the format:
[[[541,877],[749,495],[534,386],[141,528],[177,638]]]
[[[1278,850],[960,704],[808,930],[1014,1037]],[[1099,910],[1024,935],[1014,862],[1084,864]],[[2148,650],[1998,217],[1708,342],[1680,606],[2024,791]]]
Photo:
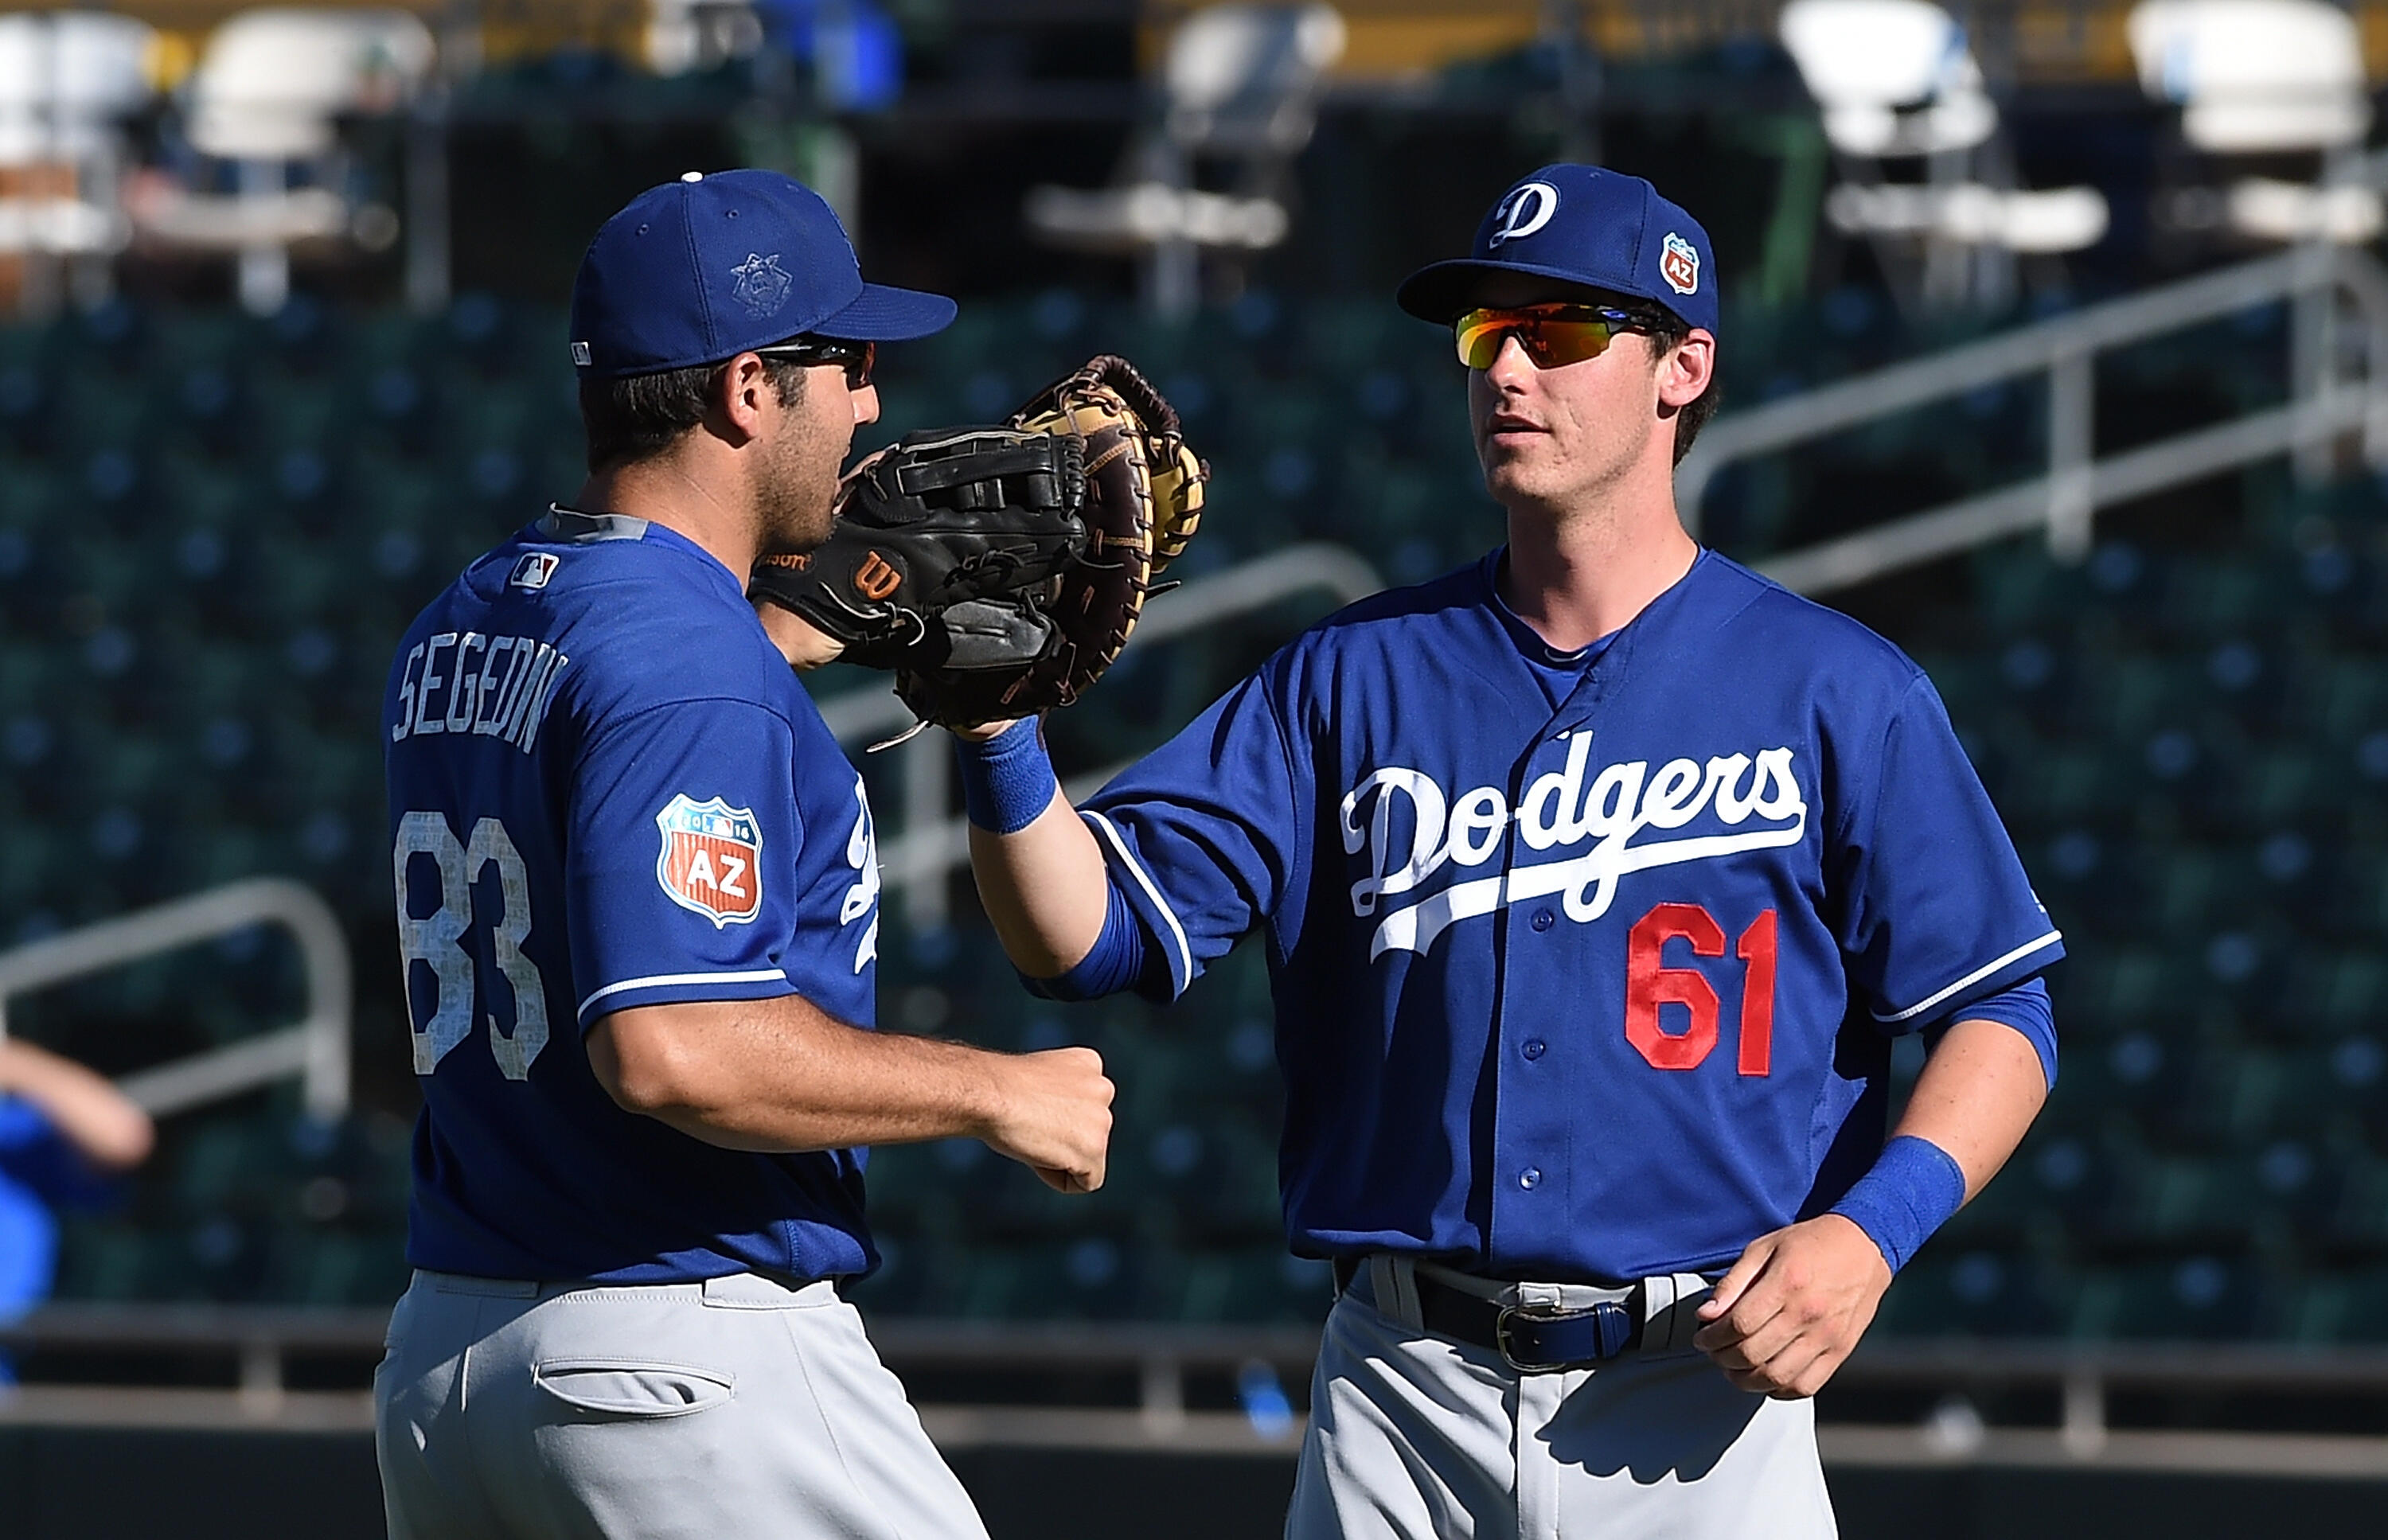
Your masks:
[[[408,1261],[482,1277],[867,1273],[862,1151],[726,1151],[607,1096],[630,1005],[800,993],[872,1024],[862,778],[731,573],[552,511],[456,578],[382,704],[423,1117]]]

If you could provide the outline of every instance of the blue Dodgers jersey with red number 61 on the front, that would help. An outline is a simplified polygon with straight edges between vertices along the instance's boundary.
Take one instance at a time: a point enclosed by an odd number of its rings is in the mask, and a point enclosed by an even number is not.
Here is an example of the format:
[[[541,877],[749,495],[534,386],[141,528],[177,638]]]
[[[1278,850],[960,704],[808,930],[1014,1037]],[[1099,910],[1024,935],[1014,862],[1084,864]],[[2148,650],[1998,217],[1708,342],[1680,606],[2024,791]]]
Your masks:
[[[1703,554],[1552,707],[1497,563],[1321,623],[1087,821],[1177,991],[1266,926],[1297,1251],[1715,1270],[1872,1165],[1891,1034],[2063,948],[1896,647]]]

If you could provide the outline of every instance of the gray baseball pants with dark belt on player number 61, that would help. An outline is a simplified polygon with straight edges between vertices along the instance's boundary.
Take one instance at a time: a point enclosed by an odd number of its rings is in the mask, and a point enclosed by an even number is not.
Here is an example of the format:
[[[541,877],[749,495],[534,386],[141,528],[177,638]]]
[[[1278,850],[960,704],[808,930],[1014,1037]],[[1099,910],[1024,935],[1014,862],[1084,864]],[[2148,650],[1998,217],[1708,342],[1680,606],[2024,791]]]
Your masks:
[[[1679,1280],[1700,1292],[1652,1318],[1650,1347],[1521,1375],[1428,1335],[1404,1273],[1375,1258],[1328,1313],[1287,1540],[1836,1535],[1815,1404],[1734,1390],[1688,1344],[1703,1280]],[[1576,1287],[1433,1277],[1502,1304],[1590,1304]]]

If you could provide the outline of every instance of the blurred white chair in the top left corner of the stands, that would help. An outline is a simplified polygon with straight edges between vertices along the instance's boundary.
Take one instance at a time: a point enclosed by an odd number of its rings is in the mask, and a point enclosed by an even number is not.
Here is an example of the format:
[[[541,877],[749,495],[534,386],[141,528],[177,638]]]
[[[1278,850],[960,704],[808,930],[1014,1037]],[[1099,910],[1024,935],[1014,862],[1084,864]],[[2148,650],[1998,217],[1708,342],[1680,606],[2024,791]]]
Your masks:
[[[62,272],[84,303],[105,298],[107,258],[131,239],[119,124],[158,96],[155,45],[131,17],[0,17],[0,258],[12,263],[0,303],[48,310]]]

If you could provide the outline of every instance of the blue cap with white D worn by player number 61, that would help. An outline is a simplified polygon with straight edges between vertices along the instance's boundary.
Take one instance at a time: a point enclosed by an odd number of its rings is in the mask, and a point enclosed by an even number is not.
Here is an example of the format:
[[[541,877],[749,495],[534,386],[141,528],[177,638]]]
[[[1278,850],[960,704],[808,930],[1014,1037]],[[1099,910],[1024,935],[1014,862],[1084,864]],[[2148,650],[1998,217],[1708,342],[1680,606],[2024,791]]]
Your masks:
[[[1598,165],[1545,165],[1521,177],[1485,222],[1476,251],[1418,267],[1397,301],[1452,322],[1483,303],[1495,275],[1547,277],[1648,298],[1688,325],[1717,329],[1717,263],[1707,232],[1641,177]]]

